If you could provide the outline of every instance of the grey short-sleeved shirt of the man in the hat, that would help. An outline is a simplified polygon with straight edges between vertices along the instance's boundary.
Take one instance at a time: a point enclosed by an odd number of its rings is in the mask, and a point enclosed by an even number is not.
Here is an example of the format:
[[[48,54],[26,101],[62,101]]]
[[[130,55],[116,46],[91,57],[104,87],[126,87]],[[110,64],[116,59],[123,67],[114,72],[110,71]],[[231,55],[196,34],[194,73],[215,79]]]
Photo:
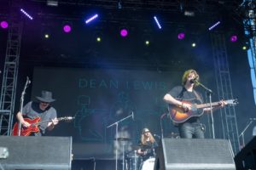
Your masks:
[[[49,106],[45,109],[45,111],[43,111],[40,109],[38,102],[32,102],[32,101],[27,103],[23,107],[22,115],[27,116],[30,119],[34,119],[38,116],[41,117],[40,122],[45,122],[45,123],[40,124],[40,126],[39,126],[42,133],[45,132],[48,122],[50,122],[52,119],[57,117],[57,113],[56,113],[56,110],[54,107]]]

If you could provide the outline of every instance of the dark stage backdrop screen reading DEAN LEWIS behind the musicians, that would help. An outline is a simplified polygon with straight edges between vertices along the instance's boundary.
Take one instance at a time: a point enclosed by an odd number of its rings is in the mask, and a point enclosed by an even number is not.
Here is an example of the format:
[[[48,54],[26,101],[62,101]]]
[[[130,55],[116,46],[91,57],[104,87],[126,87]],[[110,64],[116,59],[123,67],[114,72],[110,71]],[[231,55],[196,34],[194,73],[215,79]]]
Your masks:
[[[212,79],[211,74],[205,72],[201,77]],[[160,136],[160,121],[164,135],[176,137],[172,133],[177,133],[177,129],[165,116],[167,108],[162,98],[181,83],[182,75],[183,71],[35,67],[32,99],[40,95],[41,90],[52,91],[58,116],[76,117],[73,122],[60,122],[48,133],[73,136],[76,158],[112,158],[115,147],[119,153],[122,151],[119,143],[125,144],[125,150],[131,150],[143,127]],[[214,83],[211,86],[214,88]],[[115,126],[107,128],[108,125],[130,116],[131,112],[134,120],[130,117],[119,123],[119,137],[131,140],[114,144]],[[203,121],[204,117],[207,116],[203,116]]]

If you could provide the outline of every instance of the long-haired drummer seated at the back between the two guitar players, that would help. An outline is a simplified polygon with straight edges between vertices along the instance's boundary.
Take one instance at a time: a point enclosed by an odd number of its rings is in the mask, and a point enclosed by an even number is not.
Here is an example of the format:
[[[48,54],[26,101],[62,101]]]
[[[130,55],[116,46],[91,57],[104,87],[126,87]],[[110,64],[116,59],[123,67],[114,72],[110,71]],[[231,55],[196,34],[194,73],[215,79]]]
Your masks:
[[[143,161],[146,161],[150,157],[154,157],[154,148],[157,147],[158,144],[148,128],[143,128],[139,144],[141,147],[137,150],[137,155],[142,156]]]

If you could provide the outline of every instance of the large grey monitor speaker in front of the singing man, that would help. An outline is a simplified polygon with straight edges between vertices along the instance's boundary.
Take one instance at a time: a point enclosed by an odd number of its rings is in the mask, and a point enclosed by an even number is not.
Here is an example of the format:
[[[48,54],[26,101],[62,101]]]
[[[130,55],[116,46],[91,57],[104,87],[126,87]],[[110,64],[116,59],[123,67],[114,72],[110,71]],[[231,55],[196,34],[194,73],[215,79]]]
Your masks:
[[[233,157],[225,139],[162,139],[154,170],[236,170]]]

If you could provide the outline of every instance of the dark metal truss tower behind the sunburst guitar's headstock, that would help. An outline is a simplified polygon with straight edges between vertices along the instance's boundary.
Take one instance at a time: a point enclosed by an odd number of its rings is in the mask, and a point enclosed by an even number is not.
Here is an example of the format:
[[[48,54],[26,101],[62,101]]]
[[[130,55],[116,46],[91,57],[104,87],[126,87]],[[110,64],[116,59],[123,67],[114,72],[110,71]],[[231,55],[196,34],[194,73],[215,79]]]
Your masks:
[[[213,32],[211,34],[211,40],[218,97],[219,99],[234,99],[224,33]],[[223,139],[230,139],[234,152],[238,153],[240,141],[234,106],[226,106],[220,110],[220,122]]]

